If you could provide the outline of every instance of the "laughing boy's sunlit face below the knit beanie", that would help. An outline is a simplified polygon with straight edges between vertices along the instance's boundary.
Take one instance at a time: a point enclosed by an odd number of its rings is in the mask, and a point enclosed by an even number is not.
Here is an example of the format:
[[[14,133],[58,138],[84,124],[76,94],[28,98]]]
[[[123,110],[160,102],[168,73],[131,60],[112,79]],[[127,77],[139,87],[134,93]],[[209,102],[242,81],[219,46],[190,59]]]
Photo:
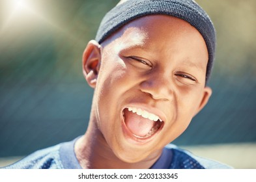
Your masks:
[[[92,112],[100,133],[122,161],[160,155],[210,97],[205,86],[206,44],[186,21],[164,15],[139,18],[101,49],[89,46],[94,49],[84,55],[84,64],[96,74],[86,76],[87,81],[96,79]]]

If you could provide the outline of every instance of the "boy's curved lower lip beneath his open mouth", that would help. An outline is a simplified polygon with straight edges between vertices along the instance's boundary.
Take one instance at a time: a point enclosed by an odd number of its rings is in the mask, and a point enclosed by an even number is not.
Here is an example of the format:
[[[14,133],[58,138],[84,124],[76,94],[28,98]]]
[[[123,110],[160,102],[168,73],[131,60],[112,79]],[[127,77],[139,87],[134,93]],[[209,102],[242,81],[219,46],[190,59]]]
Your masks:
[[[150,135],[148,137],[139,137],[139,136],[135,136],[127,127],[126,124],[124,122],[124,117],[122,116],[122,131],[124,133],[124,137],[129,140],[130,142],[134,143],[134,144],[146,144],[148,142],[150,142],[151,140],[154,139],[154,136],[158,135],[158,133],[162,130],[163,125],[160,127],[160,129],[158,129],[158,131],[156,131],[156,133],[154,133],[153,135]]]

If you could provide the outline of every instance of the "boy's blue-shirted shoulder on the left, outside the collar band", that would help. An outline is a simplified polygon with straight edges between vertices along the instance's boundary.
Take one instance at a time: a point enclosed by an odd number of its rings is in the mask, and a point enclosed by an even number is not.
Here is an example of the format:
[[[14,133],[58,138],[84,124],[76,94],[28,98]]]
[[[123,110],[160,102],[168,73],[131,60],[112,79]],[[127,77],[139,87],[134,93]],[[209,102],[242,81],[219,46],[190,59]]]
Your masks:
[[[6,169],[53,169],[63,168],[60,161],[59,149],[61,144],[46,149],[40,149],[24,157],[18,162],[6,166]]]

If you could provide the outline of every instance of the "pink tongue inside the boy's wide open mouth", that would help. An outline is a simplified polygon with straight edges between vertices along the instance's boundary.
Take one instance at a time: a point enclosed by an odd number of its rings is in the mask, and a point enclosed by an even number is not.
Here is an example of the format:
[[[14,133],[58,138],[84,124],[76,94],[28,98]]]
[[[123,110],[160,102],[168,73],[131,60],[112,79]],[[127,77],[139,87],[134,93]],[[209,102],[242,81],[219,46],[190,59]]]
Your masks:
[[[128,129],[137,136],[145,136],[154,126],[154,122],[137,115],[134,112],[124,110],[125,123]]]

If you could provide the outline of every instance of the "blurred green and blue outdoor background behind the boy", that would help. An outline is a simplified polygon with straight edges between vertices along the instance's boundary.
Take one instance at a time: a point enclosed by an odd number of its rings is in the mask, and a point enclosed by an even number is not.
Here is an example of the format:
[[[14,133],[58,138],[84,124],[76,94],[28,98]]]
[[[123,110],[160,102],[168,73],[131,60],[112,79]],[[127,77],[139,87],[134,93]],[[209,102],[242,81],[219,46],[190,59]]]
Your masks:
[[[83,135],[93,90],[83,79],[81,55],[118,1],[0,2],[0,157],[27,155]],[[173,143],[236,145],[236,152],[252,153],[251,164],[241,167],[256,168],[256,1],[197,3],[217,31],[213,95]],[[232,155],[235,148],[228,151],[225,155]],[[246,152],[237,154],[240,160]]]

